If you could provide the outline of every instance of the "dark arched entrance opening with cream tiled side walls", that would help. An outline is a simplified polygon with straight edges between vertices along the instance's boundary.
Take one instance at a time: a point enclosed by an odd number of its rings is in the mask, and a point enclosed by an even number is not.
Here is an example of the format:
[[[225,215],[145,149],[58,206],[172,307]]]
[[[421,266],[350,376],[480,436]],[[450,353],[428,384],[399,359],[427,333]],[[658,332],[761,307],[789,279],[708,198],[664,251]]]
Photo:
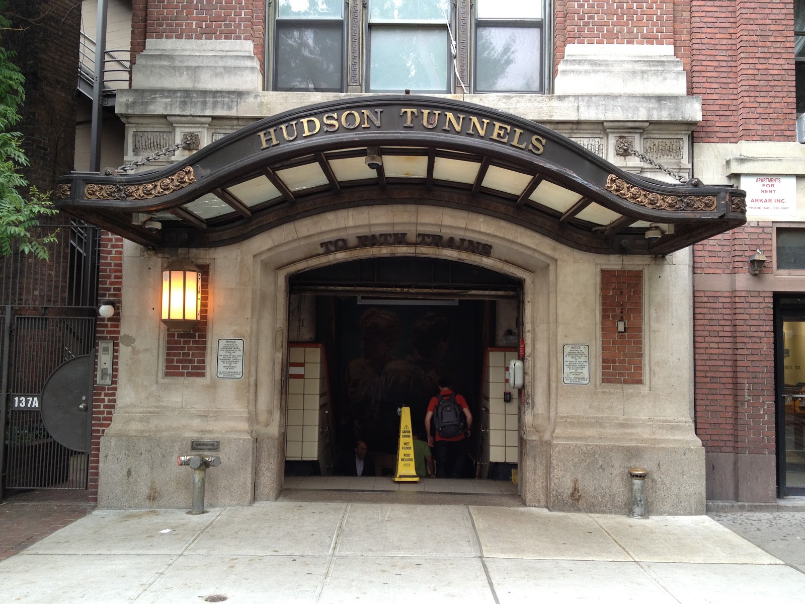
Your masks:
[[[504,403],[504,366],[519,342],[518,279],[391,257],[305,271],[290,285],[288,477],[354,476],[356,449],[366,449],[362,476],[392,477],[399,410],[408,407],[414,436],[427,442],[428,403],[449,387],[473,416],[450,478],[510,480],[518,403],[516,392]],[[421,474],[444,473],[420,461]]]

